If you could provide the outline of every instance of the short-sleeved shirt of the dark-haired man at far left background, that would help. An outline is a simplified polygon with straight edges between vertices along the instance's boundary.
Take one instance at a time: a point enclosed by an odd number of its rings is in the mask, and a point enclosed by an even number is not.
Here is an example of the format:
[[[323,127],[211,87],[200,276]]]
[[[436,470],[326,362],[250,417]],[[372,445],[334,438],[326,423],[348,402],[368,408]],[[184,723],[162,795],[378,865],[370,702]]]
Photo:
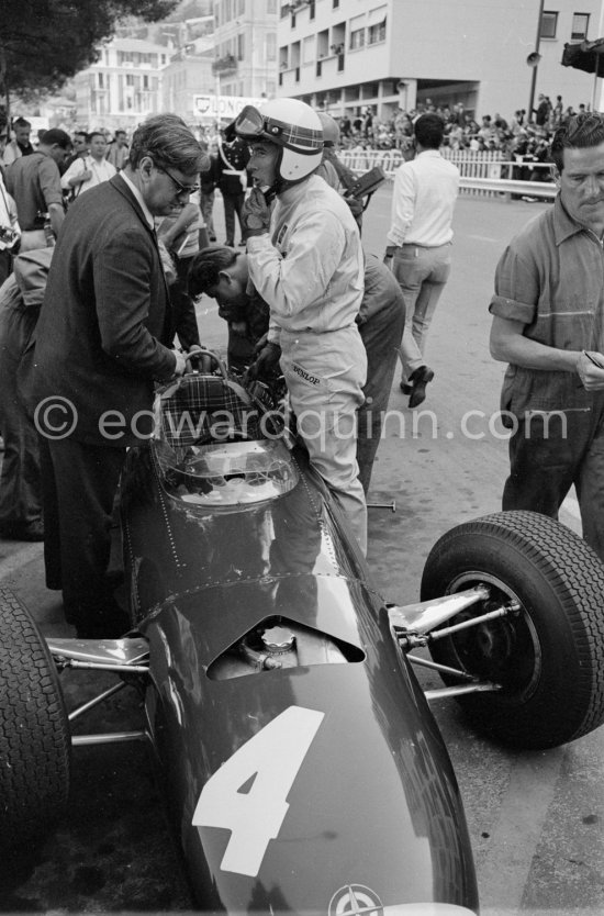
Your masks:
[[[23,232],[42,228],[38,213],[47,213],[53,203],[63,205],[60,172],[52,156],[32,153],[21,156],[7,169],[7,189],[14,198]]]

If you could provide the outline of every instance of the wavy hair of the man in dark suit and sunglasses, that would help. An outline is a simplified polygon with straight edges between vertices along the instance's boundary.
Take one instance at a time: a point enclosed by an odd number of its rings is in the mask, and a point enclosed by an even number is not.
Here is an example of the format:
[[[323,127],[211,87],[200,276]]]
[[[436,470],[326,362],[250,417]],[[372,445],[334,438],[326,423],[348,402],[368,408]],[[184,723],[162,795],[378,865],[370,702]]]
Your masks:
[[[209,157],[178,114],[156,114],[136,129],[128,153],[131,168],[144,156],[150,156],[158,168],[172,167],[184,175],[210,168]]]

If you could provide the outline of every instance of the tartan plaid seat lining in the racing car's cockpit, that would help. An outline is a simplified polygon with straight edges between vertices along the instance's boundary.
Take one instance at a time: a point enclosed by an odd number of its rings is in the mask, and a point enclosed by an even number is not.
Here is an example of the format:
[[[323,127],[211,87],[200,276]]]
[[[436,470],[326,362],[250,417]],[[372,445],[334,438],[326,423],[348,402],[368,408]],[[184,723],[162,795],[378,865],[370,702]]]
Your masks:
[[[172,448],[225,442],[234,433],[261,438],[259,411],[220,376],[186,376],[159,395],[161,438]]]

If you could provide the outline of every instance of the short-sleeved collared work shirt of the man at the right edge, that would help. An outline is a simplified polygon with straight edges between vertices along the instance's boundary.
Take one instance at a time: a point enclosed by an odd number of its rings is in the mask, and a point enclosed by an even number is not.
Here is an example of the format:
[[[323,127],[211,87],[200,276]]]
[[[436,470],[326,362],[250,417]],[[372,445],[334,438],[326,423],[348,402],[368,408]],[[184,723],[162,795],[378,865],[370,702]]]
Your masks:
[[[490,312],[522,322],[524,335],[564,350],[604,347],[604,250],[560,197],[512,239],[495,272]],[[592,395],[574,372],[508,366],[502,410],[584,410]]]

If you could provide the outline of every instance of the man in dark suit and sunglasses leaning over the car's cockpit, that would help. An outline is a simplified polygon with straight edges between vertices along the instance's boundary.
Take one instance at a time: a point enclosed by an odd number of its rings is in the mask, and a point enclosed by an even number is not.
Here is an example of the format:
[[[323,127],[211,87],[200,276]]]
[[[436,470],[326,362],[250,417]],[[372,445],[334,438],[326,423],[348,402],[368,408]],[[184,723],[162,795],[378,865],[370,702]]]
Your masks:
[[[46,583],[79,636],[128,628],[108,576],[126,447],[153,428],[156,380],[184,370],[154,216],[177,215],[206,157],[176,115],[135,132],[126,167],[78,198],[57,239],[36,332]]]

